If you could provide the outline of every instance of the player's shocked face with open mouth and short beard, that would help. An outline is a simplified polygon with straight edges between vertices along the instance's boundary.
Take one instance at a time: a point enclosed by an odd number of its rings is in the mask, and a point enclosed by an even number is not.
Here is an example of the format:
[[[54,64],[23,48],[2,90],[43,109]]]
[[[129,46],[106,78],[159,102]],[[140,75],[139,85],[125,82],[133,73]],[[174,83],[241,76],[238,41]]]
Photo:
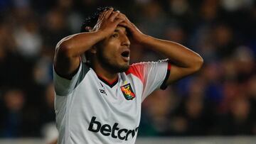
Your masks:
[[[110,37],[97,45],[97,59],[100,65],[111,72],[125,72],[129,69],[129,39],[126,28],[117,26]]]

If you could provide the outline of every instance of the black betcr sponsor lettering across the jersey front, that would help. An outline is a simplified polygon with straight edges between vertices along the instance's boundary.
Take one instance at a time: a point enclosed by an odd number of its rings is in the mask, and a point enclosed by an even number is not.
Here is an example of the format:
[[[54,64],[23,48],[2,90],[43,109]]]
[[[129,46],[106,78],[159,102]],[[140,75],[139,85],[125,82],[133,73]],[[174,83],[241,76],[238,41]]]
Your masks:
[[[109,124],[102,125],[100,121],[96,121],[95,116],[92,116],[88,130],[94,133],[101,133],[105,136],[111,136],[112,138],[119,138],[120,140],[129,140],[134,138],[139,129],[139,127],[137,127],[134,130],[128,130],[126,128],[119,128],[118,125],[119,123],[114,123],[113,126]]]

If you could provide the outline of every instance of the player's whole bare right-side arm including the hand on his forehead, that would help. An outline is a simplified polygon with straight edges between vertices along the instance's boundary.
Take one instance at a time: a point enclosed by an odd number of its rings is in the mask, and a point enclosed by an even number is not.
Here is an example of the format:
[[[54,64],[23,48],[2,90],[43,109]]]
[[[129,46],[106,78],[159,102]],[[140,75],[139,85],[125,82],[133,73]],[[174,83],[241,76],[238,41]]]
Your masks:
[[[186,77],[200,70],[203,65],[203,59],[196,52],[178,43],[168,40],[159,40],[149,35],[144,35],[144,33],[139,31],[139,29],[124,16],[124,14],[122,14],[122,17],[125,18],[125,21],[120,23],[120,25],[129,29],[134,42],[144,45],[145,48],[150,48],[151,50],[166,55],[171,61],[171,74],[166,84],[171,84],[182,77]]]

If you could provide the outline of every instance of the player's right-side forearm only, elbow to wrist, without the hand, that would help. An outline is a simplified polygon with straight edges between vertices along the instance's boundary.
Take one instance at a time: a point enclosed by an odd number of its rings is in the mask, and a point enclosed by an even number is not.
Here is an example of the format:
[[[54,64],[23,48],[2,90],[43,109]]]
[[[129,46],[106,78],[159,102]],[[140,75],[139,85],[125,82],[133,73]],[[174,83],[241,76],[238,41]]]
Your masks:
[[[144,37],[142,45],[156,52],[160,52],[179,67],[197,68],[201,67],[203,61],[202,57],[196,52],[169,40],[160,40],[147,35]]]

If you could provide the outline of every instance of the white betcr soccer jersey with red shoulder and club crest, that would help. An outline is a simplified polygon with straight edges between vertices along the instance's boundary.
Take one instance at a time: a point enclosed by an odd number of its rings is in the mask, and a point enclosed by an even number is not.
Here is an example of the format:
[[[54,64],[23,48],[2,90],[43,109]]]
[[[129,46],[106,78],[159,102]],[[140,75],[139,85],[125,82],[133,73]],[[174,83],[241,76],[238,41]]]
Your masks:
[[[171,65],[141,62],[107,82],[80,62],[71,80],[53,72],[58,144],[135,143],[142,101],[165,89]]]

